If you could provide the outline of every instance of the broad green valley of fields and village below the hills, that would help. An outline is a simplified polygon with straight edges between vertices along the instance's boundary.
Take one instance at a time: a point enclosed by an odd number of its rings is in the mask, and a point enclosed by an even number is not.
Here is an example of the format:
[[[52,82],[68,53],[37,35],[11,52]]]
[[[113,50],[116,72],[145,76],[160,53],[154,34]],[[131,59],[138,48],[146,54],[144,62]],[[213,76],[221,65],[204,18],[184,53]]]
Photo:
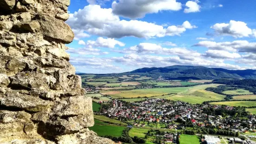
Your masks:
[[[200,144],[198,135],[215,134],[207,131],[216,130],[216,134],[225,137],[232,132],[230,137],[240,137],[237,132],[255,129],[256,91],[253,82],[246,79],[169,79],[149,73],[79,75],[87,91],[85,96],[94,101],[95,125],[90,130],[114,141],[158,144],[167,142],[169,137],[172,143],[179,140],[180,144]],[[147,105],[151,105],[151,109]],[[176,105],[177,110],[166,105]],[[233,111],[237,114],[233,115]],[[207,119],[202,114],[206,114]],[[252,125],[234,122],[240,125],[232,126],[235,133],[230,131],[231,127],[219,128],[226,127],[223,120],[233,118],[252,122]]]

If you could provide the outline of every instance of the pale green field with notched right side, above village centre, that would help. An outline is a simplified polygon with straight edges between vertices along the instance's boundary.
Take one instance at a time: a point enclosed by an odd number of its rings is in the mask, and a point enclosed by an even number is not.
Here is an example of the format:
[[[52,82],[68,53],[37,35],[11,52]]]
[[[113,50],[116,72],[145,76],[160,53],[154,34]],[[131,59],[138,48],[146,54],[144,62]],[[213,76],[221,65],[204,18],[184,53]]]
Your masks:
[[[218,84],[193,86],[185,92],[180,92],[177,95],[170,96],[166,99],[185,101],[191,104],[202,104],[204,101],[210,100],[223,100],[225,96],[205,90],[207,87],[217,86]]]

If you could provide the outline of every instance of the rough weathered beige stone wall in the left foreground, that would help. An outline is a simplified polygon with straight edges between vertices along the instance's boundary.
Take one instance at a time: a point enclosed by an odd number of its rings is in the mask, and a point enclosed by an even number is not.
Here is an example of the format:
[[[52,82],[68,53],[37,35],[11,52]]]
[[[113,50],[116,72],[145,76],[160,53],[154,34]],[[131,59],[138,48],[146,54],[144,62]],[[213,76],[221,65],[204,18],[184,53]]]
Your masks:
[[[112,144],[68,62],[70,0],[0,0],[0,143]]]

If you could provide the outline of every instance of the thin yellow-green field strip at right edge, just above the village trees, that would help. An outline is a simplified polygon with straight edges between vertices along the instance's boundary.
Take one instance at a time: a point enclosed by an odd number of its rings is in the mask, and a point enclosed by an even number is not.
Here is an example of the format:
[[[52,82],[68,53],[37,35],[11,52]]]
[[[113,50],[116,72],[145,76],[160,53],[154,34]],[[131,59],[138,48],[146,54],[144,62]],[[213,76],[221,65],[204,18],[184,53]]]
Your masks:
[[[229,105],[229,106],[256,106],[255,101],[225,101],[225,102],[213,102],[212,105]]]

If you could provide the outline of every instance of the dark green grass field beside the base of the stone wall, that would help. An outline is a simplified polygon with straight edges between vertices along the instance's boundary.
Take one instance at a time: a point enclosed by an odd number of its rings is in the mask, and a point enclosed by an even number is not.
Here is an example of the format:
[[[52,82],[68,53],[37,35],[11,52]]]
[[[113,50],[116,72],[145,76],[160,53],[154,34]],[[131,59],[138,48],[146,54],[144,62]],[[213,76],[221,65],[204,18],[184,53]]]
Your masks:
[[[100,124],[94,124],[94,126],[89,127],[89,130],[96,132],[98,136],[114,136],[114,137],[120,137],[124,129],[125,129],[124,126],[100,125]]]

